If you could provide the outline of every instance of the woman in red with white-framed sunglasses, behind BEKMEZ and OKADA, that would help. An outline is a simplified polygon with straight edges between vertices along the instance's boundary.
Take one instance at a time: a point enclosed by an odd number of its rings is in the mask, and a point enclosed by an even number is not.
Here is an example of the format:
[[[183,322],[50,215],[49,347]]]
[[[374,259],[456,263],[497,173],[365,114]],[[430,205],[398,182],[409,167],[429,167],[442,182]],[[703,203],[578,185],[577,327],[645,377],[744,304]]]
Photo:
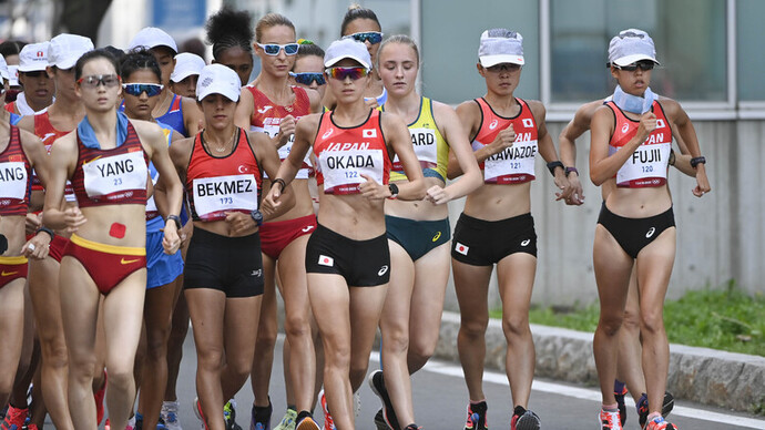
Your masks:
[[[265,133],[279,158],[289,154],[295,140],[295,123],[312,112],[322,110],[318,93],[289,84],[289,71],[295,64],[299,44],[295,25],[284,16],[268,13],[255,25],[255,54],[261,59],[261,73],[242,90],[242,103],[236,112],[237,124]],[[285,304],[285,331],[292,351],[289,355],[290,391],[295,411],[308,412],[314,405],[316,358],[310,330],[310,306],[305,273],[305,249],[309,235],[316,229],[316,215],[308,192],[308,176],[313,174],[310,161],[293,182],[295,206],[283,216],[263,225],[261,250],[265,274],[265,291],[261,330],[255,347],[252,385],[255,401],[252,408],[252,428],[269,428],[272,406],[268,382],[276,344],[276,288],[278,270],[279,290]],[[269,176],[271,177],[271,176]],[[278,263],[278,264],[277,264]],[[288,419],[292,417],[287,417]]]

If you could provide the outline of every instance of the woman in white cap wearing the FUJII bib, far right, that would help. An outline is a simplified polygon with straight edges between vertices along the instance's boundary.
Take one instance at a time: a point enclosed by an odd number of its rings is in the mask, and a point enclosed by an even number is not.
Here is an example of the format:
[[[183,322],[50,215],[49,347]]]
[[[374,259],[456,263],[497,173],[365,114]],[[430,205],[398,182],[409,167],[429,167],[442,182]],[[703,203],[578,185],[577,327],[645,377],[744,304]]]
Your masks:
[[[636,263],[643,373],[647,389],[646,429],[675,429],[661,416],[670,348],[664,331],[664,296],[675,255],[675,223],[666,186],[672,125],[696,170],[694,195],[710,191],[705,160],[693,124],[681,105],[649,88],[657,63],[653,40],[624,30],[609,45],[611,74],[619,85],[591,123],[590,178],[611,188],[595,227],[593,263],[601,304],[593,349],[603,395],[602,429],[622,429],[613,392],[630,273]]]

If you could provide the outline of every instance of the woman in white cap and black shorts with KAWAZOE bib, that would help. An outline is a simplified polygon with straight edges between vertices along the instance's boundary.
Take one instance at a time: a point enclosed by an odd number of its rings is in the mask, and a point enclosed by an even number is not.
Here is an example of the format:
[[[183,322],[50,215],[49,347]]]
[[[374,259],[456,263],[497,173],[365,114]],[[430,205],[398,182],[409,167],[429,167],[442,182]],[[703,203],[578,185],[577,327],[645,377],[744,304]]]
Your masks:
[[[514,405],[510,428],[540,427],[537,414],[527,410],[536,357],[529,328],[537,270],[530,194],[538,151],[548,162],[555,185],[562,190],[558,199],[568,197],[571,190],[544,124],[544,106],[538,101],[513,96],[524,63],[522,40],[519,33],[506,29],[481,34],[477,68],[486,80],[487,94],[457,108],[483,168],[484,182],[468,195],[455,227],[451,249],[461,309],[457,347],[470,395],[466,429],[488,427],[481,380],[486,356],[483,336],[489,322],[488,286],[494,264],[508,342],[506,371]]]

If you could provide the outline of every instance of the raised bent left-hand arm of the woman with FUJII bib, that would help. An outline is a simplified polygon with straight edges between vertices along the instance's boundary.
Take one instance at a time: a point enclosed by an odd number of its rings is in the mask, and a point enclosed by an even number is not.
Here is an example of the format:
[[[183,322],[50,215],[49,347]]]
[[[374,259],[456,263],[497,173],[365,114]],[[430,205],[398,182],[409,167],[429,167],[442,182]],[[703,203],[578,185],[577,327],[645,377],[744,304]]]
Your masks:
[[[638,132],[621,150],[609,155],[609,140],[614,117],[608,106],[598,108],[590,124],[590,180],[600,186],[619,172],[649,134],[656,129],[656,115],[646,112],[640,117]]]

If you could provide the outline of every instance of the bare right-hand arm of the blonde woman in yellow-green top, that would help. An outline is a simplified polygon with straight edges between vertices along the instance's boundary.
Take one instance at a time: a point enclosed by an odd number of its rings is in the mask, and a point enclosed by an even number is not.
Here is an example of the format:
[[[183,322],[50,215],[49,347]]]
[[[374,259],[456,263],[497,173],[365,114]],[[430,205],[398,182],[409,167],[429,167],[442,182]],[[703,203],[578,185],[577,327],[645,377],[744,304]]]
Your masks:
[[[472,155],[468,134],[459,122],[455,110],[443,103],[436,101],[431,101],[431,103],[439,132],[449,143],[449,154],[453,154],[460,171],[465,172],[458,181],[452,182],[446,187],[432,186],[427,191],[426,199],[436,204],[443,204],[472,193],[481,186],[483,177],[481,176],[481,170],[478,168],[476,157]]]

